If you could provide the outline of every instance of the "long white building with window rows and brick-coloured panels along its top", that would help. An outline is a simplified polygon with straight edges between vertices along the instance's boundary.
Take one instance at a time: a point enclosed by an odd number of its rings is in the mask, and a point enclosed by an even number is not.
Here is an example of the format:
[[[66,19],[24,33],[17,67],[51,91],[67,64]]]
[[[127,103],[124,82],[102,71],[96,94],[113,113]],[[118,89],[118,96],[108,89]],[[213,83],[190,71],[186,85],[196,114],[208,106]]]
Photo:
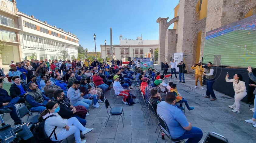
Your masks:
[[[35,59],[38,60],[60,59],[63,57],[57,55],[63,50],[68,52],[68,57],[63,60],[77,58],[79,39],[76,35],[51,26],[46,21],[37,20],[33,15],[28,16],[21,12],[17,12],[17,15],[20,16],[18,19],[22,25],[22,31],[19,32],[22,60],[30,60],[32,54],[36,54]]]

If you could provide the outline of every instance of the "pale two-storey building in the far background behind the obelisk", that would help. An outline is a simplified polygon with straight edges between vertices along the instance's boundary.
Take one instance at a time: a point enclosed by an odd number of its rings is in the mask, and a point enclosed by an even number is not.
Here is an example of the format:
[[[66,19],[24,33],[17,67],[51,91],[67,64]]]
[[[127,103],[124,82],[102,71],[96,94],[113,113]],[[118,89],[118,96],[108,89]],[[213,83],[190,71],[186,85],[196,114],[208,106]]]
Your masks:
[[[128,60],[129,57],[154,57],[154,51],[158,47],[158,40],[142,40],[141,37],[137,37],[136,40],[123,38],[122,35],[119,36],[119,45],[113,46],[113,59],[125,58]],[[110,51],[110,45],[100,45],[101,57],[105,60],[107,57],[112,60],[112,53]],[[109,61],[110,61],[109,60]]]

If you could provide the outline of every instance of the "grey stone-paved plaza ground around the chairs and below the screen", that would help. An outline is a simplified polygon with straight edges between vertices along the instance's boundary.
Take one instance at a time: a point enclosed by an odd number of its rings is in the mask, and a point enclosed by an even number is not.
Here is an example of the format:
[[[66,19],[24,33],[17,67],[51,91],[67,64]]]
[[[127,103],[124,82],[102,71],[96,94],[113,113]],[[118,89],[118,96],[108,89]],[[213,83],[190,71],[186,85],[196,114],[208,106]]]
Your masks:
[[[156,69],[160,69],[155,65]],[[175,77],[175,76],[174,76]],[[224,78],[224,77],[223,77]],[[251,119],[253,112],[249,110],[249,105],[240,102],[240,112],[231,112],[228,105],[234,103],[234,98],[231,98],[222,93],[216,92],[216,101],[210,101],[202,96],[206,93],[205,89],[194,88],[194,77],[192,73],[185,74],[185,83],[178,83],[178,79],[166,79],[166,83],[172,81],[177,84],[177,89],[181,95],[188,100],[189,106],[195,107],[194,110],[188,111],[185,109],[185,116],[193,126],[200,128],[203,131],[203,138],[207,133],[212,131],[228,138],[231,143],[255,143],[256,128],[252,124],[244,122],[245,119]],[[139,90],[132,90],[133,94],[140,96]],[[147,125],[150,113],[141,110],[141,104],[137,103],[134,106],[124,105],[122,98],[113,98],[115,92],[113,89],[106,92],[110,105],[112,107],[123,107],[124,109],[124,127],[122,119],[119,116],[112,116],[105,127],[107,120],[107,112],[104,103],[100,103],[100,107],[90,108],[90,115],[86,117],[86,127],[94,128],[92,132],[86,134],[88,143],[155,143],[158,137],[159,127],[157,133],[157,119],[154,115],[151,116],[149,125]],[[250,107],[253,108],[253,105]],[[4,116],[6,123],[13,126],[13,121],[10,119],[9,114]],[[158,142],[164,143],[161,135],[158,137]],[[165,137],[167,142],[170,140]],[[202,140],[200,143],[202,143]],[[66,143],[66,140],[63,142]],[[68,138],[69,143],[74,143],[74,136]]]

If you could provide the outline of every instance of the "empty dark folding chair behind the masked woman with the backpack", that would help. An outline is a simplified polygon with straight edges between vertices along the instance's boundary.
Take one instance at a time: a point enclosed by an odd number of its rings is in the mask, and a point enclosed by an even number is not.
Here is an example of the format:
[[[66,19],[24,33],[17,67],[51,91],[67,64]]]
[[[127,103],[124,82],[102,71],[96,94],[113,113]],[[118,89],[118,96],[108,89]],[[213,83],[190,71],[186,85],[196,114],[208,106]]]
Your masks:
[[[29,122],[32,122],[33,124],[36,124],[36,123],[37,123],[39,115],[33,116],[32,113],[29,111],[29,109],[26,107],[26,105],[25,105],[24,103],[19,103],[19,104],[16,106],[16,110],[17,110],[17,113],[18,113],[18,116],[19,116],[21,125],[22,125],[22,118],[23,118],[25,115],[28,115],[28,118],[27,118],[26,123],[29,123]],[[32,116],[31,119],[29,119],[29,115]]]

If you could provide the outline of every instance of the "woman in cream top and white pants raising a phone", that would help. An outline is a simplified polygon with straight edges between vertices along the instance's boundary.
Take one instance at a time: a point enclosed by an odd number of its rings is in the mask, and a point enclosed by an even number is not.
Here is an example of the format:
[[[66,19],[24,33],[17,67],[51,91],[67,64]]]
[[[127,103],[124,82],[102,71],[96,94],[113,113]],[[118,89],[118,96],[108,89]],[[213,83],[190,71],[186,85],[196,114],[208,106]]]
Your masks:
[[[245,82],[243,81],[243,77],[240,74],[235,74],[232,80],[228,79],[229,75],[226,76],[226,81],[233,83],[234,91],[235,91],[235,102],[233,105],[229,105],[229,108],[233,108],[232,112],[240,113],[240,101],[247,95]]]

